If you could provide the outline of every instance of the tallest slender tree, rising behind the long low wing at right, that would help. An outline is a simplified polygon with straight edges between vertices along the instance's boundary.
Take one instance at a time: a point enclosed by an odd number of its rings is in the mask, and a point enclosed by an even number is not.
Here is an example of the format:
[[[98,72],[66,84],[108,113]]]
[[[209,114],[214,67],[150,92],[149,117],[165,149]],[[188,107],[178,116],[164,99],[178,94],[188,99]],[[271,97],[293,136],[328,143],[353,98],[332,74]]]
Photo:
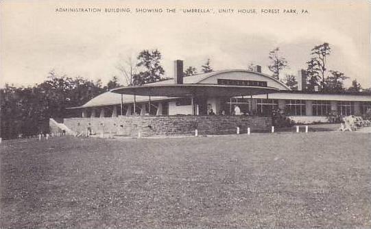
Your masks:
[[[331,47],[328,43],[323,43],[322,45],[316,45],[311,51],[312,58],[309,62],[314,64],[313,70],[316,71],[316,74],[320,77],[320,84],[322,88],[324,88],[326,59],[331,53]],[[307,62],[307,64],[309,64],[309,62]]]

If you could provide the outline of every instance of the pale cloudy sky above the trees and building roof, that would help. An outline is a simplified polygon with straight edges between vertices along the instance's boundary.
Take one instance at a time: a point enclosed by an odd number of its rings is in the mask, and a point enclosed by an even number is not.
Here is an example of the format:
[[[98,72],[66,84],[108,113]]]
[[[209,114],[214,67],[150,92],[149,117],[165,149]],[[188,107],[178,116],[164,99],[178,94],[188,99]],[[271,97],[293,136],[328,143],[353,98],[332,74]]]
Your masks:
[[[56,12],[59,8],[100,8],[101,12]],[[105,13],[130,8],[130,13]],[[161,8],[162,13],[136,13]],[[176,9],[175,13],[166,8]],[[209,9],[184,13],[183,9]],[[233,9],[233,13],[219,13]],[[256,10],[239,14],[237,10]],[[295,9],[297,14],[283,10]],[[278,14],[261,10],[280,10]],[[308,13],[303,13],[307,10]],[[272,11],[271,11],[272,12]],[[246,69],[251,62],[270,74],[269,52],[280,48],[285,74],[298,73],[311,49],[330,43],[328,69],[370,87],[370,4],[367,1],[1,1],[0,86],[29,86],[49,71],[108,82],[123,80],[117,65],[143,49],[158,49],[167,77],[173,60],[184,67],[211,59],[215,71]]]

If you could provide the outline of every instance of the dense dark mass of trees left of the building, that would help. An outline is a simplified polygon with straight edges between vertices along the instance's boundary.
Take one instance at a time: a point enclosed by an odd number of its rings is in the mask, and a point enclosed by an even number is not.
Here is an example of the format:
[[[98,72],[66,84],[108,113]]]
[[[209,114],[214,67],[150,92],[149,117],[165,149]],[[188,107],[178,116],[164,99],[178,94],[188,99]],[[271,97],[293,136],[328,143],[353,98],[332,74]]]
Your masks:
[[[1,137],[15,138],[48,132],[44,123],[49,118],[68,117],[66,108],[82,106],[106,91],[101,82],[82,77],[59,76],[50,71],[42,84],[15,87],[5,84],[0,89]]]

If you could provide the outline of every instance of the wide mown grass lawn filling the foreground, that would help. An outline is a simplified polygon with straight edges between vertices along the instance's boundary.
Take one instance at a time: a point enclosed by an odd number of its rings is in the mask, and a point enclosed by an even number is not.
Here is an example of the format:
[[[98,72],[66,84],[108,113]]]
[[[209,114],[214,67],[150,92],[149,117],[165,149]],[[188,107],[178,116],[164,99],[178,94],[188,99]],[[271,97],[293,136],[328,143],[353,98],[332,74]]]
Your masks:
[[[371,134],[4,141],[1,228],[370,228]]]

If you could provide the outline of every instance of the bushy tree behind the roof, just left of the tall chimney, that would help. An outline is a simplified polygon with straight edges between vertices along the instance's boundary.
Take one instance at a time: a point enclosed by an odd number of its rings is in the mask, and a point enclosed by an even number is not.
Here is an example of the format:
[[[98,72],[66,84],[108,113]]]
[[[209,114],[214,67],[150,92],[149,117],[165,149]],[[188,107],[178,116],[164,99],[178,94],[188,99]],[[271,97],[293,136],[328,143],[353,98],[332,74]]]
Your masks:
[[[144,71],[134,75],[136,83],[147,84],[160,80],[165,73],[165,70],[160,65],[161,53],[157,49],[149,51],[143,50],[139,53],[137,58],[139,62],[136,64],[137,67],[142,67]]]

